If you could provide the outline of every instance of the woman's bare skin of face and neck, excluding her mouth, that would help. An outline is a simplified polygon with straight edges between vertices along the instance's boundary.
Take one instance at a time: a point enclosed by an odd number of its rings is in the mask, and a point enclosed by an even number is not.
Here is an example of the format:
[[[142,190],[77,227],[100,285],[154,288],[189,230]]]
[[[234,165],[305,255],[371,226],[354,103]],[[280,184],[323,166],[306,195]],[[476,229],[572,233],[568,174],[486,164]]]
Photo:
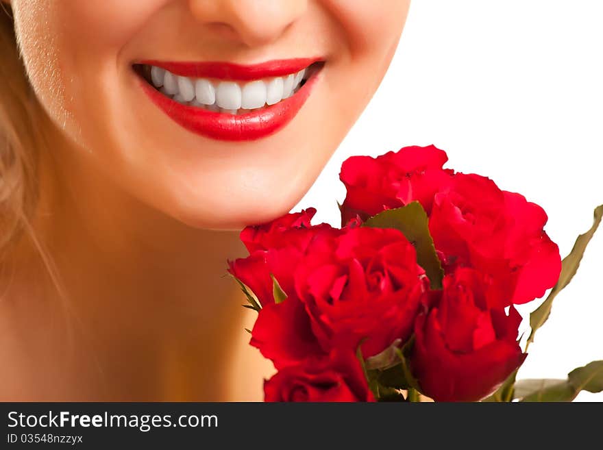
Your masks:
[[[34,229],[59,279],[30,245],[10,255],[1,397],[261,399],[272,369],[247,347],[253,316],[225,260],[244,254],[241,227],[284,214],[315,181],[378,87],[410,0],[10,3],[49,142]],[[243,142],[184,129],[132,70],[316,56],[297,116]]]

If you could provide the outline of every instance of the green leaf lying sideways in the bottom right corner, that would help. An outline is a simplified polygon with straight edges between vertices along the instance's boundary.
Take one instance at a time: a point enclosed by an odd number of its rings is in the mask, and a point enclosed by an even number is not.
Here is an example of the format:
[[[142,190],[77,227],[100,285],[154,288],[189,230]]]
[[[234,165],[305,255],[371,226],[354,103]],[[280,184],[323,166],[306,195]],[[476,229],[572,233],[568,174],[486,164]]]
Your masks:
[[[603,360],[575,368],[567,379],[526,379],[517,382],[521,401],[572,401],[582,391],[603,391]]]

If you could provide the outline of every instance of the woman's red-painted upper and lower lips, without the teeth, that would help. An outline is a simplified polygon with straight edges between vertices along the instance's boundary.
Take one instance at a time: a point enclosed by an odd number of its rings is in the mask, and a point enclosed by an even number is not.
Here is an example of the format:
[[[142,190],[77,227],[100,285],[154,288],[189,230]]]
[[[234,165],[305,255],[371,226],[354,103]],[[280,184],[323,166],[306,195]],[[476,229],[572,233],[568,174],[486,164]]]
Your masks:
[[[251,66],[225,62],[143,61],[141,64],[165,68],[175,75],[184,77],[244,81],[296,73],[317,60],[317,58],[273,60]],[[306,84],[288,99],[241,115],[212,112],[204,108],[182,105],[163,95],[143,78],[140,78],[140,85],[153,103],[173,121],[191,132],[218,140],[242,141],[269,136],[289,123],[308,99],[310,90],[317,81],[317,75],[311,76]]]

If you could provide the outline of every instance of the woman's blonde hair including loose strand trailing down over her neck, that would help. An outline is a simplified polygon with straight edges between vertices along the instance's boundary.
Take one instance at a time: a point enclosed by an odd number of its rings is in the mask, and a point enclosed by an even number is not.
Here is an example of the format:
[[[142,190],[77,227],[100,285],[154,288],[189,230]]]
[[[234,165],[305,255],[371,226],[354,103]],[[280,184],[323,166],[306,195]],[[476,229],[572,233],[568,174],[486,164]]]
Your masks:
[[[58,293],[65,329],[73,343],[75,326],[80,333],[85,333],[84,327],[73,313],[56,264],[33,224],[39,197],[38,157],[42,149],[48,149],[40,130],[43,117],[45,112],[21,60],[12,9],[0,3],[0,271],[3,275],[5,268],[12,271],[11,266],[5,267],[8,253],[22,238],[27,239]],[[0,299],[3,293],[0,290]]]

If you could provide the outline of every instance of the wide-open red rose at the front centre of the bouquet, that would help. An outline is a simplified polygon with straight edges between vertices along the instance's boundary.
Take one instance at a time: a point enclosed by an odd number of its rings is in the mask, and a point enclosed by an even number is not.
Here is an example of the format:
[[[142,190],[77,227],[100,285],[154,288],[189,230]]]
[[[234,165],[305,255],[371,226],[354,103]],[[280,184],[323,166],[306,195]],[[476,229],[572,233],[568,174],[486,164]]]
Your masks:
[[[365,358],[408,338],[427,286],[415,248],[396,229],[316,236],[295,272],[297,297],[323,349],[354,351],[362,342]]]

